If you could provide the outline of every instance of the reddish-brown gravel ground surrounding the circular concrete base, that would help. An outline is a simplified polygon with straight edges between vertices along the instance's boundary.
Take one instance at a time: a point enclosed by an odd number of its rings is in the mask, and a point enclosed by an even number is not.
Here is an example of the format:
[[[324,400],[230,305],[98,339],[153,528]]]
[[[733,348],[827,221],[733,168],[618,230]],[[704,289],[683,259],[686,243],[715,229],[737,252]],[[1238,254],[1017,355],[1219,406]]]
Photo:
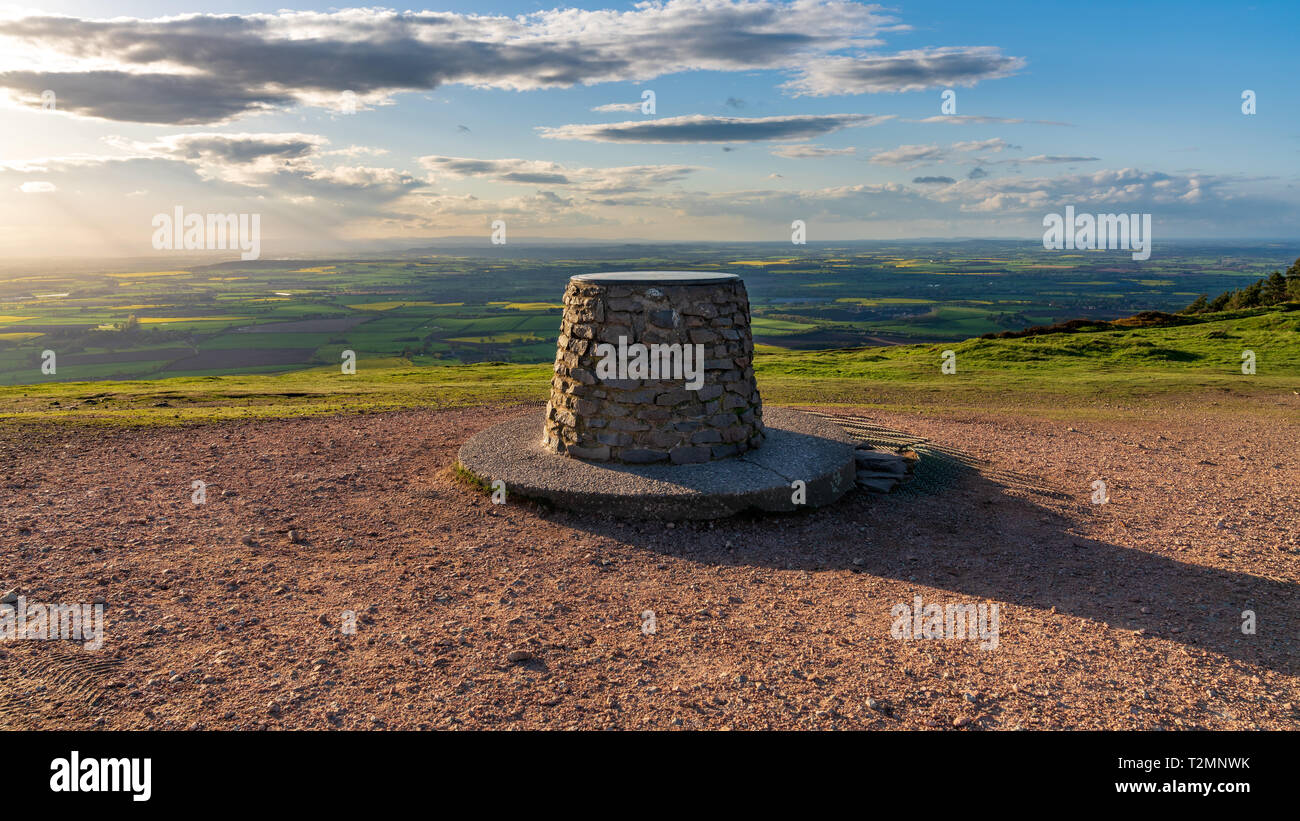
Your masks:
[[[0,587],[107,627],[0,642],[0,727],[1300,729],[1300,421],[845,410],[992,468],[671,525],[460,483],[524,408],[5,425]],[[997,647],[893,638],[918,595]]]

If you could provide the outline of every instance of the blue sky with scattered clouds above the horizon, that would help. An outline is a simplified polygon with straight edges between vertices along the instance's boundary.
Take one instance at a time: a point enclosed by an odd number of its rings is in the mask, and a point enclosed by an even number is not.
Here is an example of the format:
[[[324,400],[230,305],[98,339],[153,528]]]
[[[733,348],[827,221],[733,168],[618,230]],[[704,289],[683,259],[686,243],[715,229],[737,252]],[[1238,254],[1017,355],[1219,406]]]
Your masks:
[[[1158,242],[1300,216],[1294,3],[38,5],[0,6],[6,253],[130,255],[174,205],[263,213],[294,252],[497,218],[1034,239],[1072,204],[1152,213]],[[593,110],[644,90],[653,116]]]

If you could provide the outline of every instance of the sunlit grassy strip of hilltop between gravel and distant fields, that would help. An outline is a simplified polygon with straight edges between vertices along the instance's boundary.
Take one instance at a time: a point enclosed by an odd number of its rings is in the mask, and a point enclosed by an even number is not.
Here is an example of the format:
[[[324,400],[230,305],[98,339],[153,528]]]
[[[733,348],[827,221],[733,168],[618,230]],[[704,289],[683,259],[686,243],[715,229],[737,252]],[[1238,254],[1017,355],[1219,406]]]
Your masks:
[[[944,351],[956,355],[956,374],[941,373]],[[1243,351],[1254,352],[1252,375],[1242,373]],[[1226,409],[1249,403],[1258,412],[1294,413],[1300,305],[1204,314],[1170,327],[759,353],[757,370],[764,401],[772,404],[997,407],[1078,416],[1080,408],[1183,401],[1210,391]],[[416,368],[404,360],[363,359],[355,375],[332,366],[277,375],[51,382],[0,387],[0,420],[177,425],[528,401],[546,398],[549,378],[547,365]]]

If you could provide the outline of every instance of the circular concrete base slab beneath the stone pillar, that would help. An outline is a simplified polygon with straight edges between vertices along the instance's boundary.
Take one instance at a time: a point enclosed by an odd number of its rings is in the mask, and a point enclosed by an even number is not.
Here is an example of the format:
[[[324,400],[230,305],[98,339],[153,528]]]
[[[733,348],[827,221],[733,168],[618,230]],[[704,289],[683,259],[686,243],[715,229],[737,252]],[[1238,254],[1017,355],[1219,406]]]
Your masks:
[[[763,408],[767,440],[734,459],[697,465],[589,462],[542,444],[542,413],[494,425],[460,448],[460,465],[506,492],[567,509],[629,518],[720,518],[746,509],[793,512],[831,504],[854,486],[853,439],[828,420]],[[805,482],[803,504],[792,483]]]

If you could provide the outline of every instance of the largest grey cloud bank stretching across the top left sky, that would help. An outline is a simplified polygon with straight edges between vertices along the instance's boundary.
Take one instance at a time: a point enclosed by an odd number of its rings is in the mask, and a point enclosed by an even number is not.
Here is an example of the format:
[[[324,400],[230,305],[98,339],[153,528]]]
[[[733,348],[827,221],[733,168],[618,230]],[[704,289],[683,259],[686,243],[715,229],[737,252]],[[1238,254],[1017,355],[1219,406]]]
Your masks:
[[[61,110],[88,117],[196,125],[291,104],[341,108],[347,92],[376,104],[446,83],[529,90],[775,69],[797,74],[796,94],[858,94],[970,84],[1022,62],[991,48],[835,56],[879,47],[879,35],[897,29],[876,6],[838,0],[668,0],[519,17],[387,9],[26,17],[0,21],[0,38],[52,70],[25,66],[0,74],[0,86],[25,99],[52,88]]]

